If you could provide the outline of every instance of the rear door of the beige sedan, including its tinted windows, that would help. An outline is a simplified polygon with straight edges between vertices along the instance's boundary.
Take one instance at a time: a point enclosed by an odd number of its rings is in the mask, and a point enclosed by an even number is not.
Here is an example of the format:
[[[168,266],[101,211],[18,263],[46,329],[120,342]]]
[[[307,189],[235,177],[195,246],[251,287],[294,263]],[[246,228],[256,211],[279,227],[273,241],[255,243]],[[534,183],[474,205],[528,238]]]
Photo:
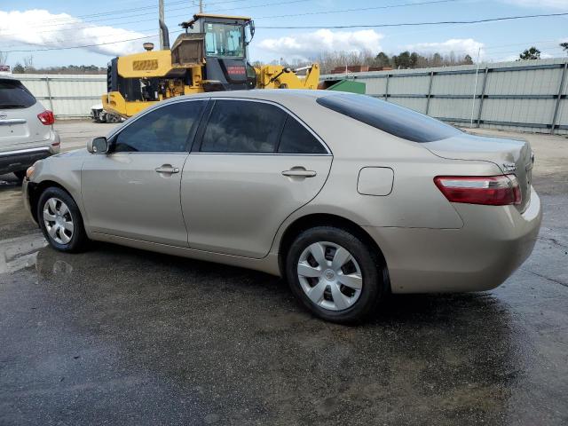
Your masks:
[[[209,108],[182,176],[189,246],[261,258],[286,217],[319,193],[331,153],[275,104],[217,99]]]

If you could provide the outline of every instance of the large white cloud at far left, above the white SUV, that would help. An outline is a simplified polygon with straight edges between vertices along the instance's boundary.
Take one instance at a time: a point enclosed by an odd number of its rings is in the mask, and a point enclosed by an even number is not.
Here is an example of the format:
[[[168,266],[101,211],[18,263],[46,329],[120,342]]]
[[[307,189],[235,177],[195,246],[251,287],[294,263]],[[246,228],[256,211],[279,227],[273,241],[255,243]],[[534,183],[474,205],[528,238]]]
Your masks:
[[[122,28],[92,25],[67,13],[52,14],[45,10],[25,12],[0,11],[0,46],[27,43],[44,48],[71,47],[85,44],[111,43],[145,36]],[[146,40],[104,44],[85,48],[88,51],[123,55],[141,51]],[[4,48],[10,51],[11,48]]]

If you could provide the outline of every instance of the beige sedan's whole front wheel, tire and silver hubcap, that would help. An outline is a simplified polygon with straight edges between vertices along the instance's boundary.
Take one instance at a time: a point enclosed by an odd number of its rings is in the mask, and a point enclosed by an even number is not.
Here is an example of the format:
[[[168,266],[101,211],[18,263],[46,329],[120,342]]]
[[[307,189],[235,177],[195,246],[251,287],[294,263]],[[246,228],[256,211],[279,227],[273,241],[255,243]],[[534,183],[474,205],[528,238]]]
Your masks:
[[[45,239],[59,251],[77,252],[88,241],[77,204],[58,187],[47,188],[37,203],[37,221]]]

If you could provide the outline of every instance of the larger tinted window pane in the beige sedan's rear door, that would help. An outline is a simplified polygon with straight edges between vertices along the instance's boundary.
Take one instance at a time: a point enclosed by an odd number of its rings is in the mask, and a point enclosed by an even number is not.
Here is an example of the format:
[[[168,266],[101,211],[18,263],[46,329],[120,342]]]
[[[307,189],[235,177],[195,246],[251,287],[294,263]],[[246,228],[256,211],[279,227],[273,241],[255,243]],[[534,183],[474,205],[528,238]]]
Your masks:
[[[286,113],[278,106],[246,100],[217,100],[203,134],[201,152],[274,153]]]

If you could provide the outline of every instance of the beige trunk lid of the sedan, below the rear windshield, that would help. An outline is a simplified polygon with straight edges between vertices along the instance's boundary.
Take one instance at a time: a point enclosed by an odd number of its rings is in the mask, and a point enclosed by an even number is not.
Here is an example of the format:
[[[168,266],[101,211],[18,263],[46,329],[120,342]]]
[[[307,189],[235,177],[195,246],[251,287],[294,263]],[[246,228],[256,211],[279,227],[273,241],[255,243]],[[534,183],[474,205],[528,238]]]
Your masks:
[[[531,197],[533,151],[522,138],[494,138],[463,133],[453,138],[426,142],[421,146],[438,157],[450,160],[493,162],[505,175],[515,175],[520,185],[524,211]]]

